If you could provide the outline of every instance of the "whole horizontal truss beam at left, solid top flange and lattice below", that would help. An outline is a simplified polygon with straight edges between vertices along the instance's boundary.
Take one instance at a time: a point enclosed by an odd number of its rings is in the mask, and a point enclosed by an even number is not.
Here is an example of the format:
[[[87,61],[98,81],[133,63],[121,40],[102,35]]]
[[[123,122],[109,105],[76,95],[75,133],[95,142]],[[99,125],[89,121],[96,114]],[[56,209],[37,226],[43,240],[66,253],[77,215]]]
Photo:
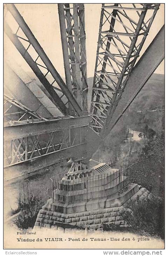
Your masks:
[[[83,116],[7,126],[4,128],[5,166],[33,159],[41,161],[41,157],[66,148],[84,147],[88,125],[89,116]]]

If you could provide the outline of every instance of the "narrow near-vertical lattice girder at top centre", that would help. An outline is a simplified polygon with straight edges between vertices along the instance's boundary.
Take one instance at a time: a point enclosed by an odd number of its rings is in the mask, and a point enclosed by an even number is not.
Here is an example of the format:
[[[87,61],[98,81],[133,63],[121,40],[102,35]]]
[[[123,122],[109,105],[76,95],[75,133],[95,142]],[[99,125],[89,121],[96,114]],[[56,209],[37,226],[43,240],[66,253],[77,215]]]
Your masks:
[[[84,4],[58,4],[65,78],[80,107],[87,112],[87,66]]]

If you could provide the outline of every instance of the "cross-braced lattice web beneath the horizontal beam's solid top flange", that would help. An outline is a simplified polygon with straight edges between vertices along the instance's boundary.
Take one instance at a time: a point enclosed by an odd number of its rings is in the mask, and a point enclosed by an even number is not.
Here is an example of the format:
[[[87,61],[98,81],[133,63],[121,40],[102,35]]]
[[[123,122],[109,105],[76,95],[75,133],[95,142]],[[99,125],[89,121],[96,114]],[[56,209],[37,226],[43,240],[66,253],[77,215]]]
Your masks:
[[[42,125],[42,124],[41,124]],[[84,136],[87,126],[68,127],[53,132],[41,131],[41,134],[6,141],[4,148],[4,166],[46,156],[64,148],[85,144]],[[35,132],[34,132],[35,133]],[[19,135],[20,137],[20,135]]]

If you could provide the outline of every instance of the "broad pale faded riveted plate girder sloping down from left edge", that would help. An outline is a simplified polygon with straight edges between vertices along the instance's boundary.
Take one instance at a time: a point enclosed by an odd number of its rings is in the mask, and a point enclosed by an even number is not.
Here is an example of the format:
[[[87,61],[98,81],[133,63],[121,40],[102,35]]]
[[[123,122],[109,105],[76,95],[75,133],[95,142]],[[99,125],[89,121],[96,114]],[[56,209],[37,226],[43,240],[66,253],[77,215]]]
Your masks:
[[[8,87],[11,91],[12,88],[11,92],[13,93],[14,88],[14,93],[18,100],[20,102],[21,100],[23,100],[24,105],[29,107],[31,110],[34,110],[36,113],[38,112],[37,114],[40,114],[43,117],[63,116],[61,111],[59,111],[59,109],[52,103],[52,101],[47,97],[47,95],[45,95],[45,93],[43,93],[43,91],[40,89],[40,87],[38,86],[38,83],[40,83],[40,81],[36,80],[35,75],[33,73],[30,77],[30,75],[27,72],[25,72],[25,70],[23,70],[22,66],[18,65],[17,62],[11,57],[10,61],[7,61],[7,65],[13,70],[13,72],[11,73],[9,70],[7,71],[4,66],[4,90],[6,90],[6,88]],[[16,74],[16,76],[20,78],[20,81],[22,80],[22,82],[17,82],[16,78],[12,76],[12,74],[14,73]],[[40,107],[39,104],[37,105],[35,103],[35,99],[40,103]],[[46,110],[43,111],[43,109],[48,110],[50,114],[47,113]]]

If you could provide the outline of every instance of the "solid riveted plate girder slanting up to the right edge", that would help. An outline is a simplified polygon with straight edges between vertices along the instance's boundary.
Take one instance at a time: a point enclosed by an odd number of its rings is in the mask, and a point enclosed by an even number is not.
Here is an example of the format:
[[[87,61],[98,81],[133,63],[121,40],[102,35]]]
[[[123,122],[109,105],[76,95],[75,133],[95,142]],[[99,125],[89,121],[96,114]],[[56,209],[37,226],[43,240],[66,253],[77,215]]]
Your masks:
[[[146,49],[145,53],[141,56],[138,63],[132,70],[132,73],[127,80],[127,85],[121,96],[114,113],[110,114],[106,119],[106,124],[102,137],[105,137],[114,125],[118,122],[126,109],[130,106],[132,101],[138,95],[140,90],[144,87],[148,79],[151,77],[155,69],[160,65],[165,57],[165,26],[163,26],[154,40]]]

